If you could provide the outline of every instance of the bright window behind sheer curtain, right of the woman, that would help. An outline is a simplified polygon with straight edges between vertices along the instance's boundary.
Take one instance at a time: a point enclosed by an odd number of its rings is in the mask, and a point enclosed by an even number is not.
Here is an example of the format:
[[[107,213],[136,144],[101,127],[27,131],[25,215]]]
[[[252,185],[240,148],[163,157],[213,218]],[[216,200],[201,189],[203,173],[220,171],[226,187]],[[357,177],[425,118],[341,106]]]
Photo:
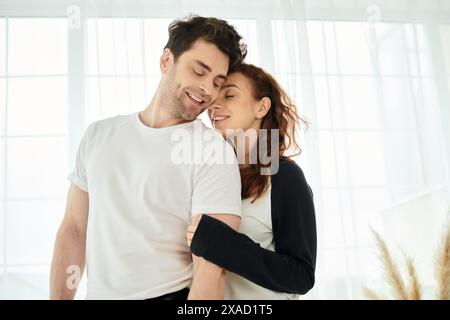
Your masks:
[[[440,141],[424,138],[440,135],[424,26],[275,20],[272,30],[275,73],[314,120],[317,145],[303,141],[301,163],[320,160],[317,294],[359,296],[361,279],[379,275],[363,260],[368,226],[382,228],[386,208],[445,184]]]

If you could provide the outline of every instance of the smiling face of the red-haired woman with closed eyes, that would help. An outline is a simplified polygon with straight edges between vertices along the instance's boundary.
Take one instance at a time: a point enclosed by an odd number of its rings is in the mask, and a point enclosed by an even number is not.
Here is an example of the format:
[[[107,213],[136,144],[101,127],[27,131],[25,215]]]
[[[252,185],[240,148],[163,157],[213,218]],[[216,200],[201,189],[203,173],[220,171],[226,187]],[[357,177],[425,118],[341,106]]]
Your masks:
[[[222,85],[219,97],[208,109],[208,116],[222,135],[226,134],[226,129],[259,129],[259,119],[265,114],[261,113],[260,104],[261,101],[253,98],[250,80],[235,72]]]

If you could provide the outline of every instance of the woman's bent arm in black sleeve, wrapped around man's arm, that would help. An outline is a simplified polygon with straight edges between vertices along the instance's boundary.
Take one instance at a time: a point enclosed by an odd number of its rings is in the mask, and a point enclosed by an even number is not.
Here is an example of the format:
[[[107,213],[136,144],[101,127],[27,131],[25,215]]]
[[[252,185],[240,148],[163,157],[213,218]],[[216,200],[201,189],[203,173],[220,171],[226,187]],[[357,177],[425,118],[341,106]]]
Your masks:
[[[280,163],[271,197],[275,252],[209,216],[191,251],[267,289],[305,294],[314,285],[316,223],[311,189],[295,163]]]

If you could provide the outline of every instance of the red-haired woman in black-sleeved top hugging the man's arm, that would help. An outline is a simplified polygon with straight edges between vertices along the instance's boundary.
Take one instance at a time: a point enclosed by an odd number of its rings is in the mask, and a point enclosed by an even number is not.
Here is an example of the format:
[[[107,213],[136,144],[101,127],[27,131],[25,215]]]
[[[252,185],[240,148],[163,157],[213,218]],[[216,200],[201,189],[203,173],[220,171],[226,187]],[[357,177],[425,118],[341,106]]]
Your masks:
[[[229,74],[208,115],[224,136],[227,129],[266,129],[264,139],[270,146],[271,133],[277,134],[279,145],[268,151],[272,159],[279,156],[279,168],[273,175],[262,175],[266,162],[259,155],[256,163],[250,161],[251,152],[260,150],[258,143],[245,145],[245,161],[239,162],[239,232],[208,215],[194,217],[187,231],[194,264],[200,256],[228,271],[225,299],[296,299],[314,285],[317,245],[313,194],[287,155],[288,148],[299,149],[295,132],[303,120],[276,80],[248,64]],[[231,140],[239,151],[237,137]]]

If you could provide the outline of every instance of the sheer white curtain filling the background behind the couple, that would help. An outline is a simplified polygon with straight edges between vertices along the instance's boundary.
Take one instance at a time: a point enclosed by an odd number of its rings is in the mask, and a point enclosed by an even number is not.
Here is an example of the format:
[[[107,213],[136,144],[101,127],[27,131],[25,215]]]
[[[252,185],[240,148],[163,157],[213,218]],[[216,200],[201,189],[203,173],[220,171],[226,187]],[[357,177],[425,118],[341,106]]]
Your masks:
[[[449,1],[1,0],[0,299],[48,296],[83,130],[145,108],[167,26],[189,13],[232,22],[247,62],[273,73],[311,122],[297,161],[319,246],[303,298],[387,291],[369,225],[415,258],[433,298],[450,200]]]

